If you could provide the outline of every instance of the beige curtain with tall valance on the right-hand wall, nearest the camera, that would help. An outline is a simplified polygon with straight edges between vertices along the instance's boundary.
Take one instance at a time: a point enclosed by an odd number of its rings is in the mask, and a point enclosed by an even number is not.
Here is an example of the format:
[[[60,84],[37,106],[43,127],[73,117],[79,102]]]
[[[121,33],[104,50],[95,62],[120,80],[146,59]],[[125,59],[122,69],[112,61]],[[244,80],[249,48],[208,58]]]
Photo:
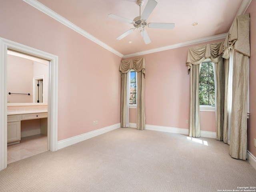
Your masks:
[[[250,14],[237,16],[224,41],[224,58],[234,49],[230,156],[246,160],[248,57],[250,57]]]

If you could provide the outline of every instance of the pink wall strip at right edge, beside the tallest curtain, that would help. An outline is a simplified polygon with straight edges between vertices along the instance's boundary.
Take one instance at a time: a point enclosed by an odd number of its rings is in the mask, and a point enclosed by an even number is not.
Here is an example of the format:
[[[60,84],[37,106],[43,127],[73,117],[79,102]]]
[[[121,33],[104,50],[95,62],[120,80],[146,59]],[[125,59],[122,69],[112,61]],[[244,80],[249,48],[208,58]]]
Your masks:
[[[250,118],[248,120],[248,150],[256,157],[256,147],[253,139],[256,139],[256,1],[252,1],[246,13],[250,13]]]

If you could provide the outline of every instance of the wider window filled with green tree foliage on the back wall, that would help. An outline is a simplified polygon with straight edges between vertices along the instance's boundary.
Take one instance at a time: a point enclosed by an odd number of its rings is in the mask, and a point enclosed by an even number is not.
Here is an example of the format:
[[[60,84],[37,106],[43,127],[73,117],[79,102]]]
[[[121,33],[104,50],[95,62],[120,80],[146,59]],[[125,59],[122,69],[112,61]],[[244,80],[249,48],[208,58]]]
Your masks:
[[[211,60],[201,64],[199,74],[199,104],[206,106],[215,105],[214,71]]]

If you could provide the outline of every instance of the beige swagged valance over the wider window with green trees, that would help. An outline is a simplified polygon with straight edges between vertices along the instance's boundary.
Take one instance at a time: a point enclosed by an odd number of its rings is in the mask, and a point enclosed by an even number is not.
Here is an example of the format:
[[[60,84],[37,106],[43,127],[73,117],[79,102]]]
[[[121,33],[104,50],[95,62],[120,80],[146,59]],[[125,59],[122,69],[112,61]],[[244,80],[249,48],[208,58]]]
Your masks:
[[[190,47],[188,49],[188,57],[186,64],[188,70],[191,65],[198,65],[202,63],[206,58],[211,58],[212,62],[218,63],[221,59],[224,42],[215,42],[206,45],[200,45],[196,47]]]

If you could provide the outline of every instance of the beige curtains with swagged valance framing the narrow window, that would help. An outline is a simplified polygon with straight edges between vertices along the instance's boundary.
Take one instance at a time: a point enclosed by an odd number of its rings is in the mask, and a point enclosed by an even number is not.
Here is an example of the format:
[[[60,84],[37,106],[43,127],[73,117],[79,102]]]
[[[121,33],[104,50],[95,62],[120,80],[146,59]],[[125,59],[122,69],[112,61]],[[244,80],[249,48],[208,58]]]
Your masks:
[[[146,74],[146,60],[144,57],[122,60],[120,63],[119,72],[122,78],[121,88],[121,127],[126,127],[127,122],[127,73],[134,69],[137,72],[137,129],[145,129],[145,74]]]

